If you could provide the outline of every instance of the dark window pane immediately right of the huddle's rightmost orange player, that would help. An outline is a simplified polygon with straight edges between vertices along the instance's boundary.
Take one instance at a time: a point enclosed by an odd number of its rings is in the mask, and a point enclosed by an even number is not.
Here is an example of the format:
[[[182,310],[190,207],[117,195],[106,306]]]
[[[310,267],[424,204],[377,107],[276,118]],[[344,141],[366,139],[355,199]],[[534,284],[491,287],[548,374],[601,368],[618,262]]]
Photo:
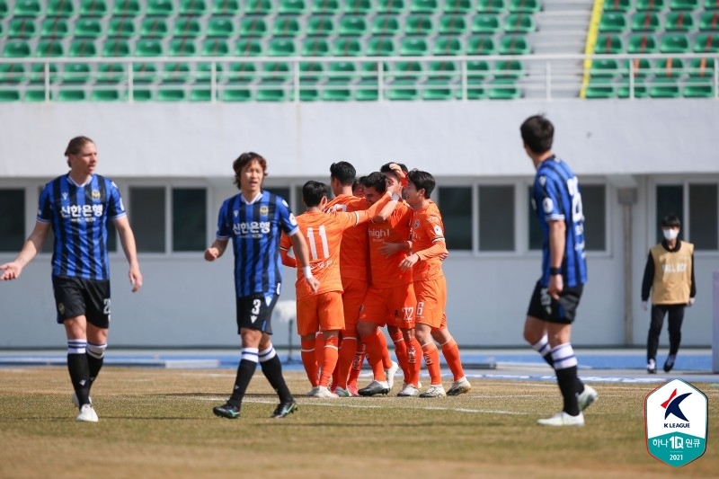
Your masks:
[[[447,249],[472,251],[472,187],[442,187],[438,193]]]

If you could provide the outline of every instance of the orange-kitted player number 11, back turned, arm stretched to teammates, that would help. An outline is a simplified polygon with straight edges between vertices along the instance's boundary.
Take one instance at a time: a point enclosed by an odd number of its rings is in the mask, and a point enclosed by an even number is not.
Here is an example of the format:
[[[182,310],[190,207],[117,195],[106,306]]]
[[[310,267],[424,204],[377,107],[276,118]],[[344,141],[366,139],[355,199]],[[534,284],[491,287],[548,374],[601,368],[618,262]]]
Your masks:
[[[303,350],[306,344],[315,343],[315,333],[322,331],[324,335],[324,351],[321,355],[321,374],[318,384],[315,386],[317,377],[317,364],[315,355],[308,357],[303,354],[303,364],[306,368],[307,377],[313,383],[313,395],[315,397],[337,397],[329,389],[329,381],[337,364],[339,333],[344,329],[344,315],[342,311],[342,280],[340,278],[340,245],[342,232],[367,222],[374,217],[377,210],[387,206],[388,203],[396,203],[399,195],[395,194],[394,200],[389,195],[377,201],[367,210],[343,213],[333,211],[324,213],[323,209],[327,204],[329,188],[321,182],[306,182],[302,188],[303,200],[306,204],[306,212],[297,217],[297,224],[302,235],[305,236],[310,256],[310,268],[313,276],[321,281],[321,287],[316,294],[306,287],[303,280],[305,274],[297,271],[297,333],[301,337]],[[394,209],[394,205],[390,207]],[[282,237],[280,241],[280,254],[282,262],[288,266],[295,266],[296,263],[288,255],[291,242],[288,237]]]

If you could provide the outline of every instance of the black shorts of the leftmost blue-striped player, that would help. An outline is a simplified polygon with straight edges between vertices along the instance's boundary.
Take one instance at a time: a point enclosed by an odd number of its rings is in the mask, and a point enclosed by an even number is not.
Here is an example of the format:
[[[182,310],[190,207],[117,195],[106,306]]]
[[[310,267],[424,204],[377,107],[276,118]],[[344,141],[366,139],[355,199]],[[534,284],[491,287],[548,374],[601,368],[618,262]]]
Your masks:
[[[58,309],[58,324],[66,319],[84,315],[88,323],[98,328],[110,326],[110,281],[53,276],[52,289]]]

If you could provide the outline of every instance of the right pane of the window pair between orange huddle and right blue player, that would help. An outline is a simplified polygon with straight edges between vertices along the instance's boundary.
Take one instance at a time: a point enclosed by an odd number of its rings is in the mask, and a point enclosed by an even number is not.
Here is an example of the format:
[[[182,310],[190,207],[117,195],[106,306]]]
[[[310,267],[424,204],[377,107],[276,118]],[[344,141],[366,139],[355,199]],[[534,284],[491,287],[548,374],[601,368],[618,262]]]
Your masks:
[[[514,186],[479,187],[479,251],[514,251]]]

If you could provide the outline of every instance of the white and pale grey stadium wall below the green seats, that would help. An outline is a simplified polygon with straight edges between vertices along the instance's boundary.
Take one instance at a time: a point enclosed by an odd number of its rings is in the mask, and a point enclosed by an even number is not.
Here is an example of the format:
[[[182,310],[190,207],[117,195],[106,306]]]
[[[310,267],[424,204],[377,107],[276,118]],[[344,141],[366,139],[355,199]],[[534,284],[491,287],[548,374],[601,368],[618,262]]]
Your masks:
[[[506,179],[528,182],[533,169],[519,123],[546,113],[556,127],[555,152],[582,178],[607,185],[607,248],[589,253],[590,282],[573,329],[578,345],[624,345],[624,223],[617,187],[635,186],[632,208],[632,344],[643,345],[649,313],[639,294],[655,238],[656,181],[719,182],[715,136],[719,103],[698,101],[385,102],[278,104],[8,103],[0,109],[0,188],[28,189],[26,229],[34,223],[35,188],[65,171],[62,153],[76,135],[98,145],[98,172],[128,182],[198,182],[209,188],[208,242],[221,201],[234,189],[231,164],[243,151],[269,161],[268,182],[327,181],[329,164],[347,160],[359,173],[397,160],[443,182]],[[301,184],[300,182],[300,184]],[[440,201],[441,204],[441,201]],[[132,211],[129,211],[131,218]],[[519,224],[519,222],[518,222]],[[517,237],[526,235],[519,229]],[[20,245],[18,245],[19,247]],[[0,262],[14,253],[0,253]],[[711,278],[719,252],[697,253],[697,306],[688,309],[683,344],[711,342]],[[235,346],[231,252],[215,264],[201,253],[142,254],[145,286],[129,292],[121,253],[111,259],[114,346]],[[448,277],[450,330],[462,345],[522,345],[528,298],[539,272],[535,252],[453,252]],[[49,255],[18,281],[0,284],[0,348],[58,347]],[[294,297],[285,270],[281,299]],[[288,325],[274,321],[278,345]],[[297,345],[297,337],[292,341]],[[666,333],[662,333],[666,344]]]

